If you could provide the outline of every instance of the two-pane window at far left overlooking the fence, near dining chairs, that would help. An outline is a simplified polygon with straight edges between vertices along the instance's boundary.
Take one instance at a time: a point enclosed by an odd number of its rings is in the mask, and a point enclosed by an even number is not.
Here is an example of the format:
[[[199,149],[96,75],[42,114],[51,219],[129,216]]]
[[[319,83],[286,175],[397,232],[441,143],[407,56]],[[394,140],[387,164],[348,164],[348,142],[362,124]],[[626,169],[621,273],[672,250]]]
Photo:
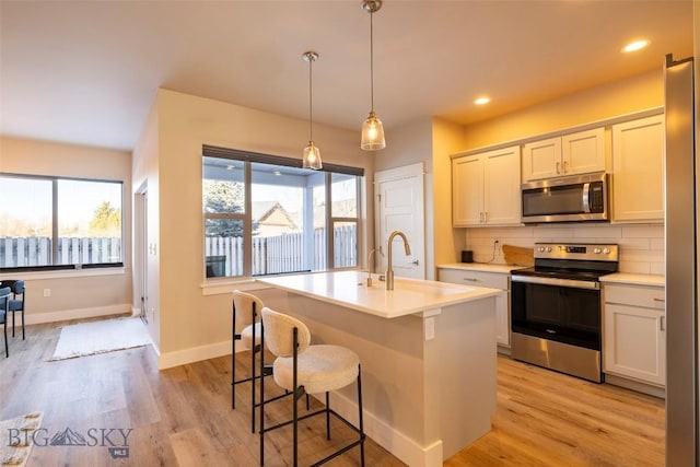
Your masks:
[[[121,265],[120,182],[0,174],[0,269]]]

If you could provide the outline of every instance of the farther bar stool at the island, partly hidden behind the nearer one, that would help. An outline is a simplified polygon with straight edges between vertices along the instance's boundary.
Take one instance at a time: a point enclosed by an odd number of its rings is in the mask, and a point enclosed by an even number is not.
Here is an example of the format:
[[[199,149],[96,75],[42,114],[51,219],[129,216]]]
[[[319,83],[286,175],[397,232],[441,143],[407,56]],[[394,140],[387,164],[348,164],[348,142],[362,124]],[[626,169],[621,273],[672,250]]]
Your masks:
[[[240,290],[233,291],[233,326],[231,342],[231,408],[235,409],[236,398],[235,388],[236,384],[250,382],[250,431],[255,433],[255,408],[259,406],[256,398],[255,381],[259,377],[256,374],[256,354],[262,352],[262,336],[260,325],[260,311],[265,305],[262,301],[257,296],[241,292]],[[240,334],[236,332],[236,326],[244,326]],[[235,342],[241,341],[246,348],[250,349],[250,376],[236,380],[236,362],[235,362]],[[262,355],[260,355],[260,374],[265,374],[266,369],[262,363]]]

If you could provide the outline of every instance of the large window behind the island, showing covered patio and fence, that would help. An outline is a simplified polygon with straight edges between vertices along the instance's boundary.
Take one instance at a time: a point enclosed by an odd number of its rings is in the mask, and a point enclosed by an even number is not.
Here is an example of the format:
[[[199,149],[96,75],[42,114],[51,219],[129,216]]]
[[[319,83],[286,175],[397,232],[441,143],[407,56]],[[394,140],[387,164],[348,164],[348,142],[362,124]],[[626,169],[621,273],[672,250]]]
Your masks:
[[[362,175],[353,167],[308,171],[299,160],[206,145],[206,277],[357,267]]]

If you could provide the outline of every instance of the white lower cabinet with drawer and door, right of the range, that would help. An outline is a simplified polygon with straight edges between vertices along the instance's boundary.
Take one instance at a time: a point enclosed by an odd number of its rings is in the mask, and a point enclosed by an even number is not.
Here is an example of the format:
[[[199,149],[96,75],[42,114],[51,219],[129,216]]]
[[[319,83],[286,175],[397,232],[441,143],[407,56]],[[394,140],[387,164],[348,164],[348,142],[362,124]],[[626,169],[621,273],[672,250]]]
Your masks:
[[[605,284],[603,371],[666,385],[664,288]]]

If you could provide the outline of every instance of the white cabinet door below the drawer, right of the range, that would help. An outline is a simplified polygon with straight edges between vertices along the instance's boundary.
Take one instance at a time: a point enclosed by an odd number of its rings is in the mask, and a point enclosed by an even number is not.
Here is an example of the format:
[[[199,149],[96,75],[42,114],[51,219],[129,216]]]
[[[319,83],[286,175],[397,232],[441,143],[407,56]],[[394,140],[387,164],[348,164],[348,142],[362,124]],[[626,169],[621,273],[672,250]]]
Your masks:
[[[605,304],[603,370],[666,385],[665,312]]]

